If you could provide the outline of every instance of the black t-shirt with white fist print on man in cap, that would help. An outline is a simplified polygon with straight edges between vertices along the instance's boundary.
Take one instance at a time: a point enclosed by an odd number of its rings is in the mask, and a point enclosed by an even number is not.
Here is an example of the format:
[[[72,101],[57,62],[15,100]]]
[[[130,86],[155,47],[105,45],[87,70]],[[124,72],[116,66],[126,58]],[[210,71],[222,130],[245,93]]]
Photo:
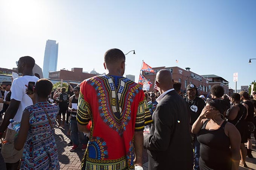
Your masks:
[[[199,117],[201,114],[204,106],[206,103],[204,100],[200,97],[196,97],[194,100],[189,101],[188,97],[184,98],[185,101],[188,102],[189,108],[190,108],[190,125],[193,125],[196,119]]]

